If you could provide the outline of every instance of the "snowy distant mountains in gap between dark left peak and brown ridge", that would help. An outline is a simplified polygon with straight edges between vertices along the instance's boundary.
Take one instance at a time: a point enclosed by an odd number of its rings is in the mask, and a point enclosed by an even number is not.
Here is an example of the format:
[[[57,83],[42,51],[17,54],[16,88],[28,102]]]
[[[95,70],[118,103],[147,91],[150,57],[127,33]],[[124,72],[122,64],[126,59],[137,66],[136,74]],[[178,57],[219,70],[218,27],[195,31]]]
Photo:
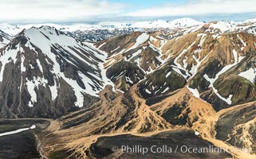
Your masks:
[[[91,25],[88,28],[79,27],[79,25],[77,25],[76,27],[64,27],[61,30],[73,34],[74,37],[78,37],[81,41],[97,42],[136,31],[146,32],[148,29],[152,29],[152,31],[158,31],[159,29],[172,30],[196,25],[203,25],[203,22],[195,21],[191,18],[181,18],[175,21],[156,20],[136,22],[134,24],[116,23],[113,25]]]

